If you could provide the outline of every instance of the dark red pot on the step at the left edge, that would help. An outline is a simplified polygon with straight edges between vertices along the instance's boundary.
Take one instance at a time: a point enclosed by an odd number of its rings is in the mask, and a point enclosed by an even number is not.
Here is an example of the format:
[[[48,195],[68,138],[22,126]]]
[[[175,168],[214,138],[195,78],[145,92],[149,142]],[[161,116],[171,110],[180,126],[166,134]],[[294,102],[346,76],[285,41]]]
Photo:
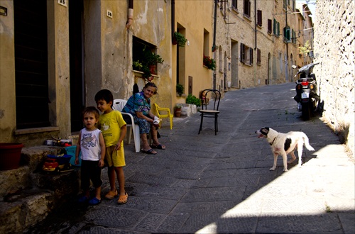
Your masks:
[[[21,143],[0,143],[0,170],[18,168],[22,147]]]

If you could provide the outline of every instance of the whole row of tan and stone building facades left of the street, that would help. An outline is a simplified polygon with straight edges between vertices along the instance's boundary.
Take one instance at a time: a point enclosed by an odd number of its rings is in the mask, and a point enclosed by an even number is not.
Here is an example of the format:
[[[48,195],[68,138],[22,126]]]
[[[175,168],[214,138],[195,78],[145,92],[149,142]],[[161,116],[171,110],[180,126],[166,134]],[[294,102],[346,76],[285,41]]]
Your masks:
[[[75,135],[97,91],[128,99],[133,84],[141,89],[147,82],[132,66],[142,48],[164,60],[153,75],[152,101],[171,110],[202,89],[290,82],[290,65],[300,67],[294,58],[302,42],[290,32],[304,16],[295,0],[4,0],[0,6],[0,142],[42,145]],[[175,31],[187,38],[185,47],[172,43]],[[203,65],[204,55],[217,69]],[[182,97],[176,84],[185,87]]]

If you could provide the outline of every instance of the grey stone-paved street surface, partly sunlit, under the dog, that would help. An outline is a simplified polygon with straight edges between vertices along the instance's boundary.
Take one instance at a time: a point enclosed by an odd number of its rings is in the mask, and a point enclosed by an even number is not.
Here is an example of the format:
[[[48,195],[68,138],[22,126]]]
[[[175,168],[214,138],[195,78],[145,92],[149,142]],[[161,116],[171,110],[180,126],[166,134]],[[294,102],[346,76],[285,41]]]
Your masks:
[[[73,198],[27,233],[355,233],[354,158],[319,116],[302,121],[294,87],[227,92],[217,135],[212,118],[200,135],[198,113],[174,118],[173,130],[160,129],[167,149],[158,155],[125,146],[127,204]],[[270,146],[254,133],[264,126],[305,132],[315,152],[304,149],[301,168],[283,172],[279,157],[269,171]]]

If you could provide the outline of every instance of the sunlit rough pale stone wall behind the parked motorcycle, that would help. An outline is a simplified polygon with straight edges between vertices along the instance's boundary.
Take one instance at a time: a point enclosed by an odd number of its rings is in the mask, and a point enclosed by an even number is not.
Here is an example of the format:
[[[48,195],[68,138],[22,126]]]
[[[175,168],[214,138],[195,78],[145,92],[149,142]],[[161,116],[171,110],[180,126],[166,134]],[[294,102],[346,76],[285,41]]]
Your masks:
[[[317,1],[315,66],[323,117],[354,155],[355,1]]]

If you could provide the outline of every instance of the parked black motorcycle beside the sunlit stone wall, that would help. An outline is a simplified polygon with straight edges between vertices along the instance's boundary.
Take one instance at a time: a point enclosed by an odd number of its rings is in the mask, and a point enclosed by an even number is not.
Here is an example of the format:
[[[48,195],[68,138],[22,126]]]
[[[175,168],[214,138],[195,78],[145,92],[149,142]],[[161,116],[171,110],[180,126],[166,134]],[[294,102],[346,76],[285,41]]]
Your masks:
[[[320,96],[317,94],[317,79],[312,73],[313,67],[318,64],[320,62],[305,65],[295,74],[295,77],[300,76],[296,82],[296,96],[293,99],[297,101],[297,111],[302,111],[304,121],[310,119],[311,114],[317,110],[317,104],[320,101]],[[297,67],[292,65],[292,68]]]

